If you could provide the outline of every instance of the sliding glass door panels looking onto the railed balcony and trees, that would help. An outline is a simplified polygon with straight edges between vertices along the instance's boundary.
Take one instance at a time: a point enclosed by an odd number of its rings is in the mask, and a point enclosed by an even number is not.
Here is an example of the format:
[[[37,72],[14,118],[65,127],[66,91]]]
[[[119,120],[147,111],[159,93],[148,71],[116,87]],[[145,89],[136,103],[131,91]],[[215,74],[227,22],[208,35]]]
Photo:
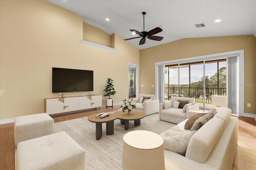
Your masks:
[[[226,59],[165,66],[165,100],[193,97],[211,109],[211,96],[226,96]]]

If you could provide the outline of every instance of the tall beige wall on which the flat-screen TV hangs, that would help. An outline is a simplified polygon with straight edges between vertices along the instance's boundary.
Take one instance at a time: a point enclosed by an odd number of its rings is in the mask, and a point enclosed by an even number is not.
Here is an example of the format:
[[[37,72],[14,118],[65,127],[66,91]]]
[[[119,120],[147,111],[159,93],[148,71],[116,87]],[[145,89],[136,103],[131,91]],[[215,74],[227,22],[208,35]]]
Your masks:
[[[140,64],[140,51],[115,34],[116,53],[81,45],[83,18],[46,1],[1,0],[0,37],[0,119],[44,112],[44,98],[58,97],[52,67],[94,70],[93,92],[65,96],[104,94],[112,78],[120,103],[128,97],[128,63]]]

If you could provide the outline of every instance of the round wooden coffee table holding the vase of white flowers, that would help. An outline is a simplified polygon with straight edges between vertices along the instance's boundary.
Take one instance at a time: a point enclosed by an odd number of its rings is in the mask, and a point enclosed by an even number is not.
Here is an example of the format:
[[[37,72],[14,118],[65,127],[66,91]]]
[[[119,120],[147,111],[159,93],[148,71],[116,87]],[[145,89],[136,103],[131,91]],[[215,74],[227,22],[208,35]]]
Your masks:
[[[129,129],[129,121],[134,120],[134,125],[139,126],[140,125],[140,119],[146,116],[145,113],[142,113],[140,111],[132,111],[131,115],[128,115],[126,113],[123,113],[123,111],[116,111],[114,115],[117,116],[118,119],[120,119],[120,122],[124,125],[124,129]]]

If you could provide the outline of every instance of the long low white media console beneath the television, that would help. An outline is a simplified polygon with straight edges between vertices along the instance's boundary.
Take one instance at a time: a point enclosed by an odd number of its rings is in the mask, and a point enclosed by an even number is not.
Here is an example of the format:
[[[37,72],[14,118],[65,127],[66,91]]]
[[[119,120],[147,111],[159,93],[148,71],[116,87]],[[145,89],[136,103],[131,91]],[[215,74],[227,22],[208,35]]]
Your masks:
[[[102,107],[102,95],[44,99],[44,112],[48,115],[97,107]]]

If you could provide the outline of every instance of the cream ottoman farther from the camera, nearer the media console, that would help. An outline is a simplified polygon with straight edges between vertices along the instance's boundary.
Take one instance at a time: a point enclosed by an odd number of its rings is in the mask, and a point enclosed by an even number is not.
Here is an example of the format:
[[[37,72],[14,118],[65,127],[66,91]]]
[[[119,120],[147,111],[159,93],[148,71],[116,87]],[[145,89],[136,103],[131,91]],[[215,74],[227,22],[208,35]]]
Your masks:
[[[19,116],[14,121],[14,143],[54,133],[54,120],[47,113]]]

